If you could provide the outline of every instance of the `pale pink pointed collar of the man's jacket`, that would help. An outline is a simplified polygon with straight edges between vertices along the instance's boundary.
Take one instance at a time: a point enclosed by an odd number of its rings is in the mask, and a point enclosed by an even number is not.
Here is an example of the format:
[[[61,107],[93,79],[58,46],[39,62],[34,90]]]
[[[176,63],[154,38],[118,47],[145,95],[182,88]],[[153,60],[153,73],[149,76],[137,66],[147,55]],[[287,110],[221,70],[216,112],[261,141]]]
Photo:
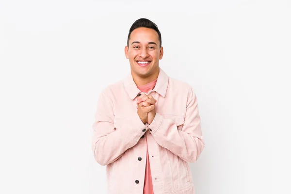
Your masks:
[[[166,96],[166,91],[168,88],[168,82],[169,82],[169,77],[167,76],[167,74],[160,68],[160,73],[158,76],[158,80],[156,83],[155,88],[153,89],[153,91],[159,93],[162,97]],[[123,81],[124,87],[130,97],[131,100],[133,100],[135,97],[137,97],[137,95],[141,92],[135,82],[133,81],[132,75],[131,73],[129,73],[129,75],[124,79]]]

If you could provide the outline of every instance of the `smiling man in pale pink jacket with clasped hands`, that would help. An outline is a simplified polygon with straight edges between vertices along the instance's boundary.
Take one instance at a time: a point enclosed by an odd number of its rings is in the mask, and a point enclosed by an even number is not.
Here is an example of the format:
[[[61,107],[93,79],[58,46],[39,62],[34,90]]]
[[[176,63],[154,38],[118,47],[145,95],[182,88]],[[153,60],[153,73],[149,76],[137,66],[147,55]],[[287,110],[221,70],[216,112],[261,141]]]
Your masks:
[[[188,162],[204,148],[194,90],[159,67],[162,38],[152,21],[132,24],[125,55],[131,72],[102,91],[93,124],[108,194],[194,194]]]

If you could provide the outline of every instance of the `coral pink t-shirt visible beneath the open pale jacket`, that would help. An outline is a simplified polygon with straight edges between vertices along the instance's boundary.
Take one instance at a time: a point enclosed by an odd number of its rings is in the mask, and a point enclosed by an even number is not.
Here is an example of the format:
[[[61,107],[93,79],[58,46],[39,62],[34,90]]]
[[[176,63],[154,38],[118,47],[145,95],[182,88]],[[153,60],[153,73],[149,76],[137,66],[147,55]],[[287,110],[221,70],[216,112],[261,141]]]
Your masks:
[[[152,82],[149,82],[146,85],[137,86],[137,88],[141,92],[148,93],[150,90],[154,89],[157,83],[157,80],[158,79]],[[150,173],[150,165],[149,165],[149,159],[148,159],[147,140],[146,140],[146,174],[145,174],[144,194],[154,194],[153,182],[152,182],[152,177]]]

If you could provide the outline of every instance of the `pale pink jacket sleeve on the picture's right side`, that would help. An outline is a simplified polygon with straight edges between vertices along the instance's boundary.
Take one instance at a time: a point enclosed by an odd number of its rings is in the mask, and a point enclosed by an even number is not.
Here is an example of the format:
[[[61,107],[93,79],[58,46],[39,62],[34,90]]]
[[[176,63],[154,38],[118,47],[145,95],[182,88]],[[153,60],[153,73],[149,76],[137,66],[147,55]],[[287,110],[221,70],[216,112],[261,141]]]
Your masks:
[[[152,135],[160,146],[170,150],[186,162],[195,162],[204,148],[200,123],[197,98],[190,87],[184,125],[181,130],[178,130],[177,124],[172,119],[164,118],[159,113],[156,113],[148,127],[152,130]]]

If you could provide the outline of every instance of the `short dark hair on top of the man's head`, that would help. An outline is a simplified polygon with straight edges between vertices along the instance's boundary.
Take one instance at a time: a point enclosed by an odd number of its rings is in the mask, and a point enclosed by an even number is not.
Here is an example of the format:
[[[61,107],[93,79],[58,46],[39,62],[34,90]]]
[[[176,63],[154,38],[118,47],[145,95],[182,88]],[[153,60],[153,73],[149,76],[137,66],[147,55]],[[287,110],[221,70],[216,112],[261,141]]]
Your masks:
[[[153,29],[155,30],[156,32],[158,32],[159,34],[159,41],[160,41],[160,48],[162,47],[162,35],[161,35],[161,32],[158,28],[158,26],[152,22],[151,20],[149,19],[146,19],[146,18],[140,18],[138,20],[136,20],[130,27],[129,29],[129,35],[128,35],[128,42],[127,42],[127,45],[129,46],[129,38],[130,38],[130,34],[133,30],[137,29],[137,28],[150,28],[150,29]]]

